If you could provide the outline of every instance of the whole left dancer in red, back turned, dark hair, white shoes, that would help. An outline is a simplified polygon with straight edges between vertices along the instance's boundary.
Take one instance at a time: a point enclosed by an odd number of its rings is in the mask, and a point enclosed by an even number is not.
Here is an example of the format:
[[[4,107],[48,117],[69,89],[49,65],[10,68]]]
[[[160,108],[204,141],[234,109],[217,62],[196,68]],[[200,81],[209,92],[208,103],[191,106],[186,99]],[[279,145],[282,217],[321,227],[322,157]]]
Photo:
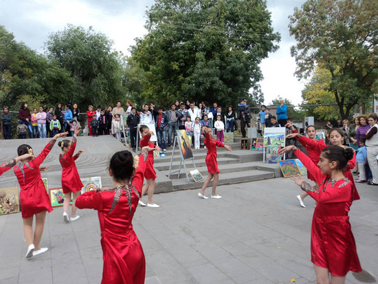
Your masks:
[[[21,189],[21,215],[23,218],[23,232],[25,233],[25,239],[28,245],[25,255],[27,259],[43,252],[47,252],[48,250],[48,248],[40,248],[39,243],[43,233],[43,226],[45,225],[46,212],[52,212],[52,206],[41,178],[39,166],[51,151],[56,139],[64,137],[67,133],[68,132],[56,134],[54,138],[47,143],[38,157],[35,159],[29,158],[24,162],[19,162],[13,169]],[[27,153],[33,153],[33,149],[27,144],[22,144],[17,149],[17,153],[21,156]],[[34,215],[36,215],[36,226],[33,237]]]

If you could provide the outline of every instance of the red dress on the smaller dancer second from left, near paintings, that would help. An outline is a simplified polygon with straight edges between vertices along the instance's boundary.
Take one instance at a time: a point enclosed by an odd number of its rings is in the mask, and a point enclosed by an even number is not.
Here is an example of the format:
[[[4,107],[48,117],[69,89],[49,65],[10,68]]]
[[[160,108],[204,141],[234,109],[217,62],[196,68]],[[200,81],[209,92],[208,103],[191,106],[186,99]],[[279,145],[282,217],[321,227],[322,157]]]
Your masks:
[[[72,138],[72,144],[65,155],[59,155],[59,162],[62,165],[62,189],[63,193],[76,193],[84,186],[81,182],[75,160],[78,158],[74,155],[76,149],[76,137]],[[74,155],[74,156],[72,156]]]

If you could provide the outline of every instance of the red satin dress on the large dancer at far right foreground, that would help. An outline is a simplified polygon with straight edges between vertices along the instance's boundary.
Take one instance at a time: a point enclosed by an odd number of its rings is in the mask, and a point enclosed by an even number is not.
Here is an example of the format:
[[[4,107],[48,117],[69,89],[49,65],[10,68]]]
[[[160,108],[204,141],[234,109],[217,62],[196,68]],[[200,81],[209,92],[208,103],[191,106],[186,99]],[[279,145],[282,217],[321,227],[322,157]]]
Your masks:
[[[349,270],[362,272],[348,212],[354,198],[354,186],[348,178],[331,179],[299,150],[294,152],[308,171],[313,173],[319,191],[307,182],[302,190],[318,201],[311,225],[311,261],[328,268],[334,276],[345,276]]]

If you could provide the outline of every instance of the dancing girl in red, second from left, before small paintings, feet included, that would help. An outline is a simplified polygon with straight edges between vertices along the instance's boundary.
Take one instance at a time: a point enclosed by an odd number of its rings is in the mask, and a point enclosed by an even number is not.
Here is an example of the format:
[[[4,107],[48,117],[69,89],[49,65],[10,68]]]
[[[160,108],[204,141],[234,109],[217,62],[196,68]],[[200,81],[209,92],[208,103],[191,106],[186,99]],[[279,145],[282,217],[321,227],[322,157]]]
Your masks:
[[[62,165],[62,189],[65,194],[65,200],[63,201],[63,220],[66,223],[70,221],[75,221],[80,218],[79,215],[76,215],[76,198],[80,195],[81,188],[84,186],[79,177],[78,169],[76,168],[75,160],[81,155],[82,150],[78,151],[74,155],[76,149],[76,137],[80,133],[81,127],[78,127],[74,131],[74,137],[72,142],[65,139],[58,143],[62,153],[59,155],[59,162]],[[72,194],[72,210],[71,217],[69,217],[69,203],[71,202]]]

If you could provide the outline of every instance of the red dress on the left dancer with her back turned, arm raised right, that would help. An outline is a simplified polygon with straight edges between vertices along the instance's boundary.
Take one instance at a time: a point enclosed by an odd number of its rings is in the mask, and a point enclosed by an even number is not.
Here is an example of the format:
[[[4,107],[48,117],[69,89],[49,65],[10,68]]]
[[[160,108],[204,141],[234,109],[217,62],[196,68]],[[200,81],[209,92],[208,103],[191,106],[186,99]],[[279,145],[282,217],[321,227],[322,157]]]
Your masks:
[[[20,162],[14,166],[13,171],[20,184],[21,215],[23,219],[33,217],[43,211],[52,212],[49,195],[42,182],[39,166],[50,153],[56,140],[51,140],[41,154],[30,162]]]

